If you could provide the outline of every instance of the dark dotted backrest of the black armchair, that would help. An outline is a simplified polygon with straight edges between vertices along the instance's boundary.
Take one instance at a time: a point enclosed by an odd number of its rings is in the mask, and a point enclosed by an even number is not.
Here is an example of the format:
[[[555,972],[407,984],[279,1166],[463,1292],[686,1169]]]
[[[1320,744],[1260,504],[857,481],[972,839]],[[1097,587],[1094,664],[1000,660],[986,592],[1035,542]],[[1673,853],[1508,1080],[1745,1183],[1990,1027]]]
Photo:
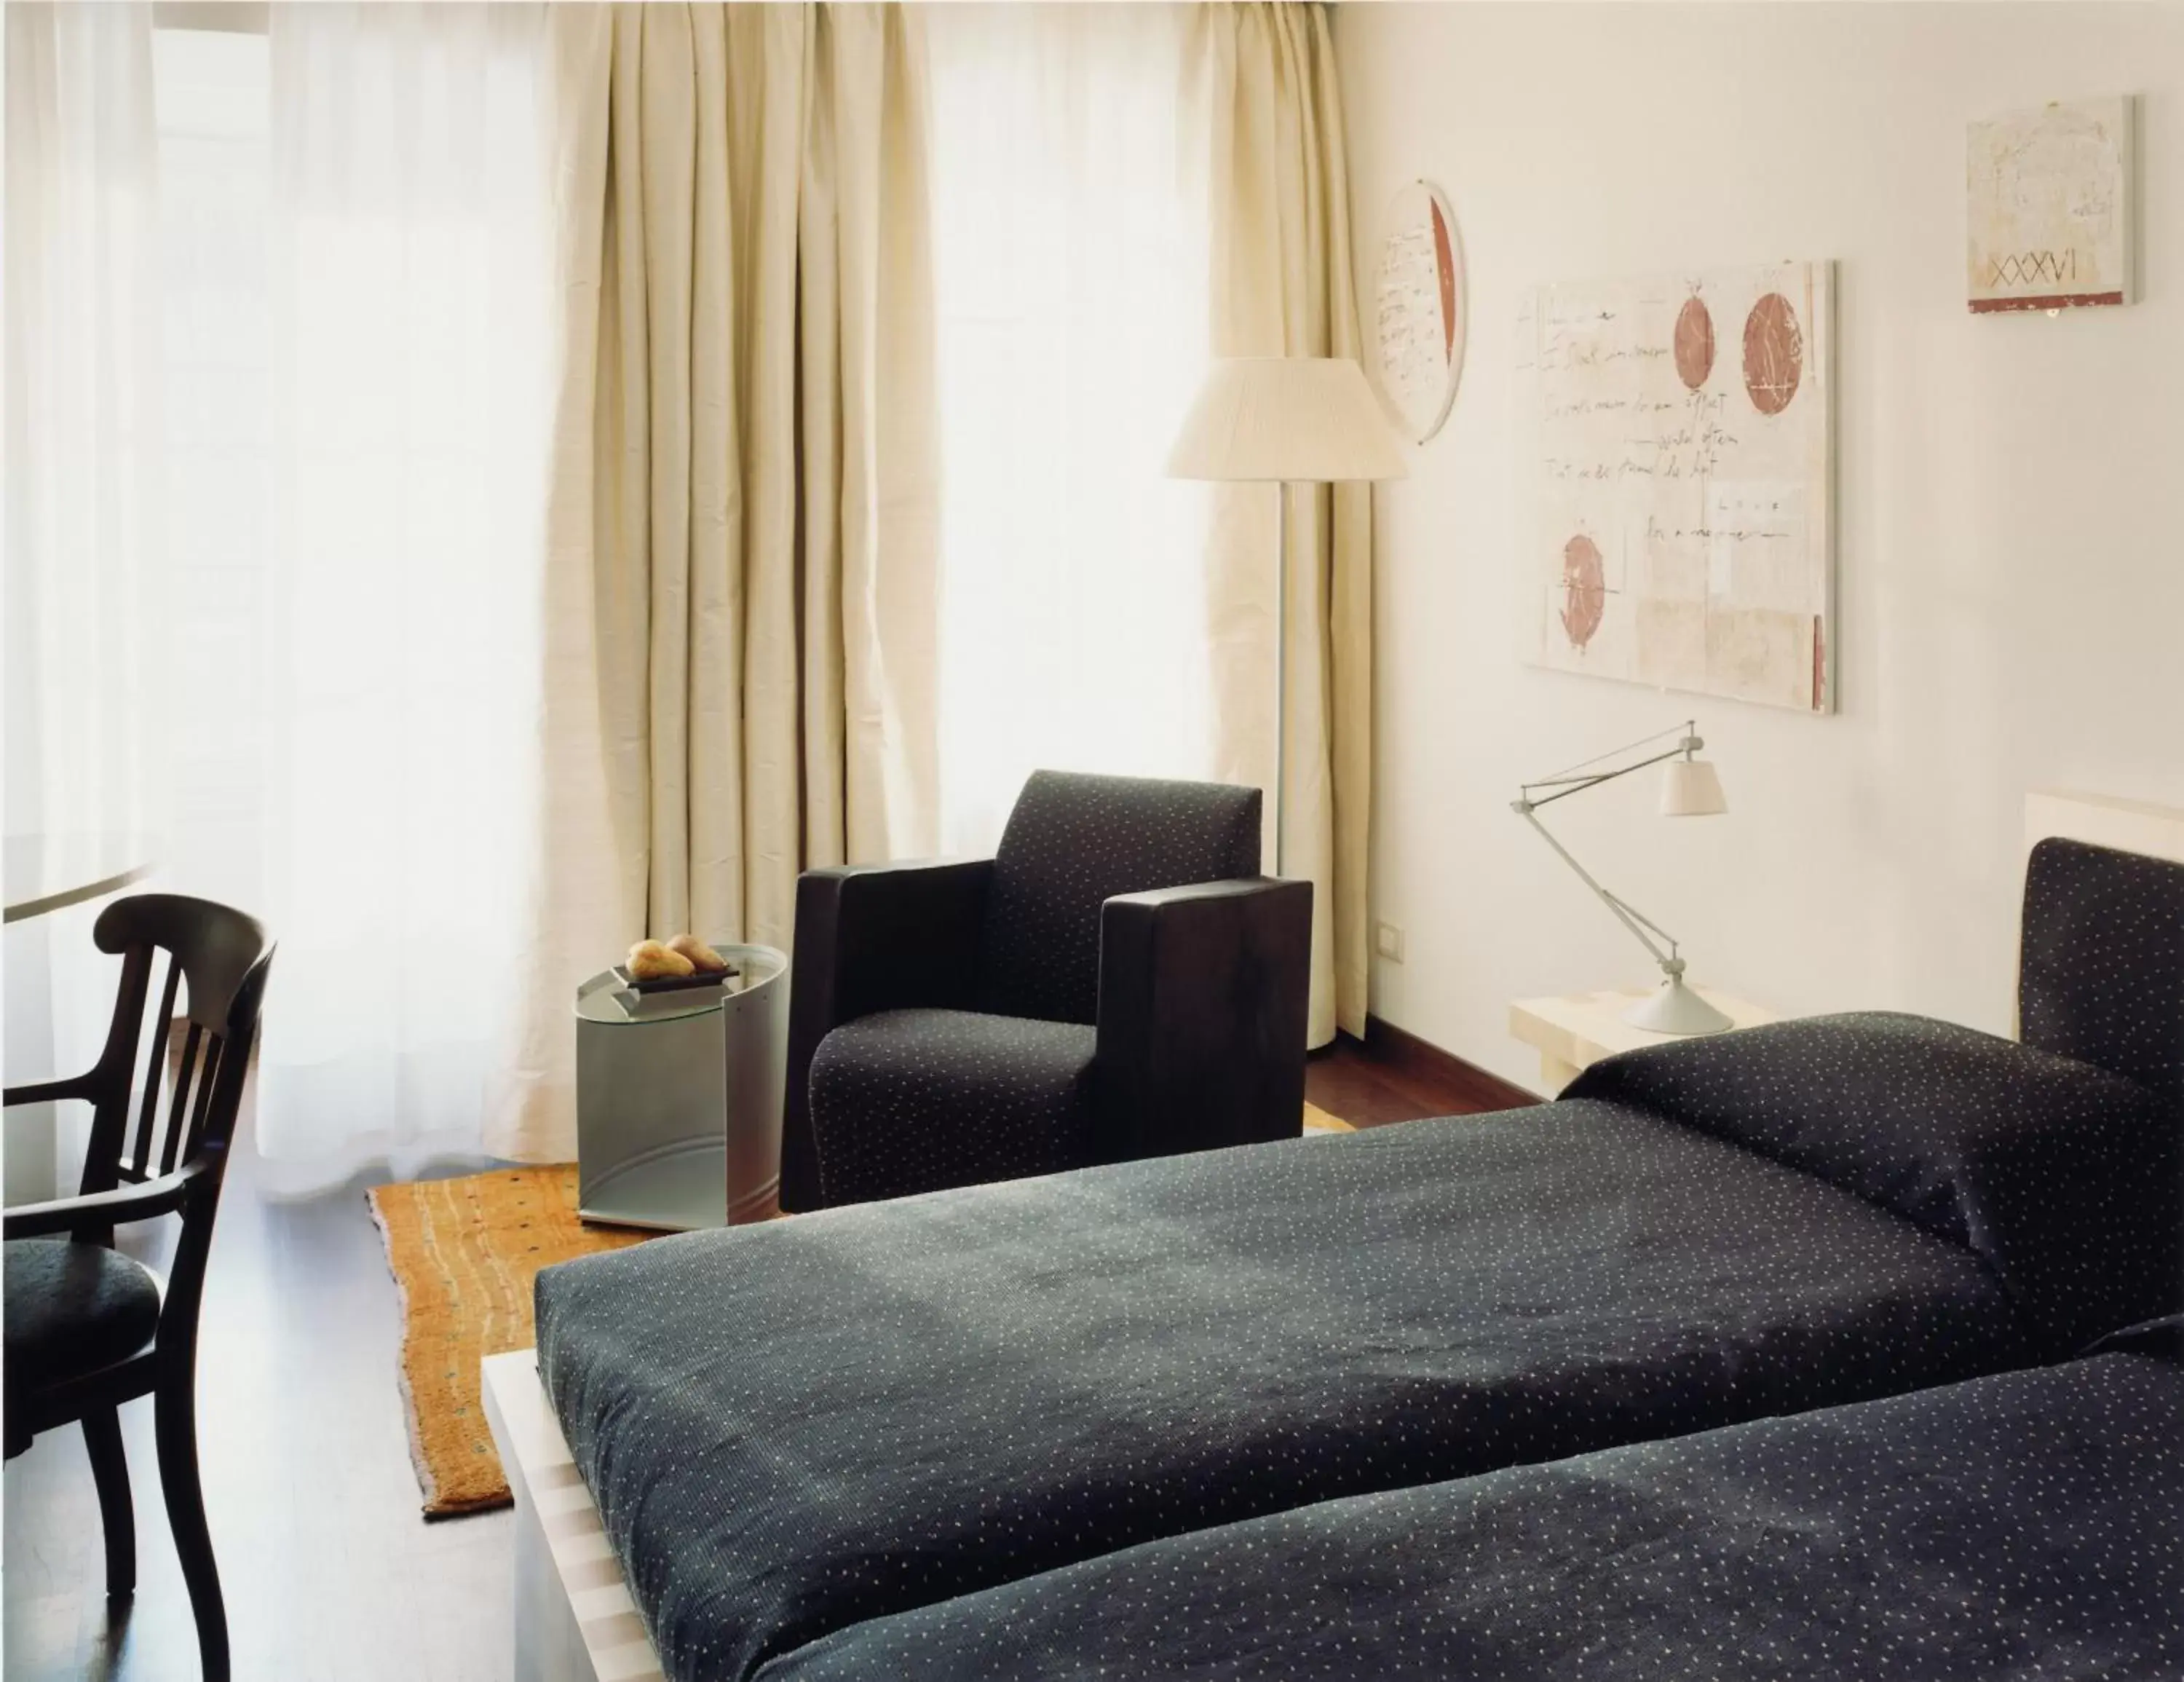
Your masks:
[[[985,896],[978,1009],[1099,1016],[1099,917],[1116,893],[1258,876],[1258,789],[1033,771]]]

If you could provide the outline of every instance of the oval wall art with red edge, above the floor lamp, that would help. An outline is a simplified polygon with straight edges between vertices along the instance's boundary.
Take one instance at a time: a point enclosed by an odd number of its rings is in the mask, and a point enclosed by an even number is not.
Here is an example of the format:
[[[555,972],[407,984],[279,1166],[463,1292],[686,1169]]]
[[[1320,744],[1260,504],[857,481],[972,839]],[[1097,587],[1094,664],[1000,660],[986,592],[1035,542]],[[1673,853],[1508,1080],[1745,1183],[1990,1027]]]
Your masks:
[[[1431,181],[1406,183],[1387,208],[1374,275],[1380,395],[1406,437],[1441,430],[1463,374],[1463,247],[1457,216]]]

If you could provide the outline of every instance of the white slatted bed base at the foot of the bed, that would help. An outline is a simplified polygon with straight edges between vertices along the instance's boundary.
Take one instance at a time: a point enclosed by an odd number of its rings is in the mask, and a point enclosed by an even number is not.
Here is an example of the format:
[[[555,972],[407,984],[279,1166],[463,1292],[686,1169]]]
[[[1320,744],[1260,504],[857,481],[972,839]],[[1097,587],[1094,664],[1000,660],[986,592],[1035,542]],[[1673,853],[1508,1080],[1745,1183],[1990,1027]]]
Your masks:
[[[546,1400],[537,1350],[489,1354],[480,1370],[515,1494],[515,1682],[666,1682]]]

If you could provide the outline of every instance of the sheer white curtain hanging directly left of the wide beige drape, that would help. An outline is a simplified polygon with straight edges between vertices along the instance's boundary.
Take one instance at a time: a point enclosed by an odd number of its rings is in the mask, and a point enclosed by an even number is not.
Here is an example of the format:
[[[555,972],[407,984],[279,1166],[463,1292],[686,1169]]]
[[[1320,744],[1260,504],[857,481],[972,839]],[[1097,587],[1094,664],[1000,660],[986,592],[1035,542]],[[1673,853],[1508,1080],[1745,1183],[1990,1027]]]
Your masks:
[[[273,7],[260,1151],[476,1151],[539,706],[539,7]]]

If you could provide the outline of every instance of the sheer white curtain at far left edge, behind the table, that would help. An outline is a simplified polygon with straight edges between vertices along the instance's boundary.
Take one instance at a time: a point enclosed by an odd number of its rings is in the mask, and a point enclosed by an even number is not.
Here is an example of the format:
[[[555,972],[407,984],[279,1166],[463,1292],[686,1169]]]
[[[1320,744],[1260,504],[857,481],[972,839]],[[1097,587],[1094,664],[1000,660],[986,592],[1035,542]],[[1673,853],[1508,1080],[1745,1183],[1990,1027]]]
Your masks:
[[[164,817],[157,188],[151,7],[7,7],[11,850],[46,837],[105,852],[92,837]],[[114,966],[92,948],[94,915],[9,926],[9,1083],[81,1073],[98,1053]],[[55,1193],[55,1121],[46,1105],[9,1112],[11,1199]]]

